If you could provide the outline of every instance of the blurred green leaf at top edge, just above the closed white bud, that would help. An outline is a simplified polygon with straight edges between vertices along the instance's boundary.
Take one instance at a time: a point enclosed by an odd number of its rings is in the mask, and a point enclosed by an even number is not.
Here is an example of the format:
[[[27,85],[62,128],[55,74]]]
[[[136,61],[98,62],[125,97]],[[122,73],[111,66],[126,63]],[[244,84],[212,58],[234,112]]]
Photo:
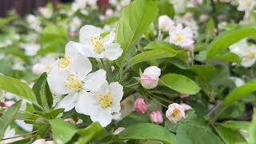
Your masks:
[[[174,6],[168,0],[158,1],[159,15],[168,15],[174,18]]]

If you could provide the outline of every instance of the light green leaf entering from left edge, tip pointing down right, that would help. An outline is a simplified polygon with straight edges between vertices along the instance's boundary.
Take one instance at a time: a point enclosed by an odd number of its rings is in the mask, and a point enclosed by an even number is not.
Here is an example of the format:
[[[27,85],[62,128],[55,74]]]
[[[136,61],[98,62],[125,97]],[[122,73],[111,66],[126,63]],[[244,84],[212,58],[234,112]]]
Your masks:
[[[40,106],[37,102],[34,91],[31,90],[30,86],[28,86],[25,82],[21,82],[18,79],[6,77],[0,74],[0,90],[6,90],[12,94],[16,94],[42,108],[42,106]]]

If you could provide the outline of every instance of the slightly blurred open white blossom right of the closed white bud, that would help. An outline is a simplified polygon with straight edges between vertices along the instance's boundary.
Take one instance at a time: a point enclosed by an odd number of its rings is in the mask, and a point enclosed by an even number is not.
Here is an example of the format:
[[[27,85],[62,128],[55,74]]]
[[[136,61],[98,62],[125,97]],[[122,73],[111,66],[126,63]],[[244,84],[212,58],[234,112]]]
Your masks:
[[[174,29],[169,31],[170,43],[174,43],[177,46],[191,46],[194,43],[193,32],[190,27],[185,27],[183,29],[182,24],[178,24]]]

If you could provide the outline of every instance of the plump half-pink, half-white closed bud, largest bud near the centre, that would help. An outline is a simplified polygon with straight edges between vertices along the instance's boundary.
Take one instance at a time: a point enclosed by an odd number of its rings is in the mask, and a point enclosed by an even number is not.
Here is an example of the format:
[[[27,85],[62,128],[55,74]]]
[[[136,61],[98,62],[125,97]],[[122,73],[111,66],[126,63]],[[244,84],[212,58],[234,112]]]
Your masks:
[[[159,76],[161,70],[157,66],[150,66],[146,68],[141,76],[142,86],[146,89],[154,89],[158,86]]]

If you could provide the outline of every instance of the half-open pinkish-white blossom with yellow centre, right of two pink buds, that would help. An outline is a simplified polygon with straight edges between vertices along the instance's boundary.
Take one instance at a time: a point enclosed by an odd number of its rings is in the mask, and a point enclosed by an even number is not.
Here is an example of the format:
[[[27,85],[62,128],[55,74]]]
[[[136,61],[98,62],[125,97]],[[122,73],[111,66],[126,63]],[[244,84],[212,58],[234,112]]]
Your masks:
[[[172,123],[177,123],[182,120],[182,118],[185,118],[183,106],[178,103],[170,104],[168,106],[168,110],[166,110],[166,118],[168,118]]]

